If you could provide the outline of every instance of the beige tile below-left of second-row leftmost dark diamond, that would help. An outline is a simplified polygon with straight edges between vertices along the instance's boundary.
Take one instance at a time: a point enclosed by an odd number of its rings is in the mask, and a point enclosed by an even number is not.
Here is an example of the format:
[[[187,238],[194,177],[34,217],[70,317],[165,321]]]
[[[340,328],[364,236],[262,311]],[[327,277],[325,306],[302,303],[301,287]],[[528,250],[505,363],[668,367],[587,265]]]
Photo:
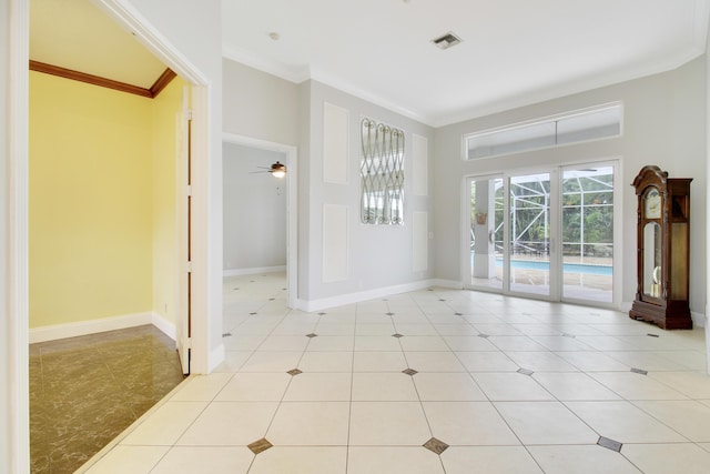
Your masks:
[[[217,402],[280,402],[291,383],[287,373],[240,372],[214,399]]]

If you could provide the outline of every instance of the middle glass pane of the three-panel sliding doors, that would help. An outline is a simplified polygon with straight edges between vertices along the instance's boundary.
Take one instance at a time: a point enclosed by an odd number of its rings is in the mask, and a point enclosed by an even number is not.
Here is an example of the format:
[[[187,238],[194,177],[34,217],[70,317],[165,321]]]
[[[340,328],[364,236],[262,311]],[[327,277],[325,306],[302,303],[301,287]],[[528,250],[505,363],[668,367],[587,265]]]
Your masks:
[[[510,178],[509,269],[514,293],[550,294],[550,174]]]

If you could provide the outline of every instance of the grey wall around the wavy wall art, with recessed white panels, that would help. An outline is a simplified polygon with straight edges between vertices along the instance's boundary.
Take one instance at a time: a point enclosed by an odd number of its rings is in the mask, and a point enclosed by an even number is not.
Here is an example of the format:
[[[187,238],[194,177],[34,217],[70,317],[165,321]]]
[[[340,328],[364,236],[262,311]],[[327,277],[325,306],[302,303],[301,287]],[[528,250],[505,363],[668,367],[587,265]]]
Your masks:
[[[428,262],[427,270],[415,271],[413,268],[413,213],[426,212],[430,214],[432,194],[414,195],[412,143],[414,134],[428,139],[430,143],[434,139],[434,130],[428,125],[317,81],[311,80],[308,88],[308,154],[302,161],[304,167],[301,170],[302,175],[307,177],[308,185],[300,188],[307,190],[308,203],[307,209],[300,212],[300,216],[303,224],[302,231],[306,233],[302,235],[302,242],[307,245],[305,254],[310,270],[307,290],[302,294],[302,299],[310,302],[336,302],[341,297],[352,297],[357,294],[367,295],[373,291],[405,288],[427,281],[433,275],[432,260]],[[347,181],[345,184],[324,181],[325,103],[346,111],[348,117]],[[359,222],[359,127],[364,117],[399,128],[405,132],[404,225],[366,225]],[[429,150],[429,170],[432,170],[433,162],[434,158]],[[323,245],[324,240],[328,238],[327,234],[324,236],[328,232],[328,229],[324,226],[325,206],[328,206],[328,215],[335,210],[342,214],[334,216],[332,222],[343,222],[345,215],[345,225],[347,226],[347,243],[344,244],[345,249],[342,249],[346,253],[346,274],[341,274],[343,269],[338,269],[337,279],[327,282],[325,280],[329,279],[324,279],[323,274]],[[301,209],[303,210],[303,206]],[[341,209],[343,212],[339,211]],[[304,220],[304,216],[307,216],[307,220]],[[342,235],[342,229],[334,229],[333,235]],[[432,255],[432,252],[428,252],[428,255]]]

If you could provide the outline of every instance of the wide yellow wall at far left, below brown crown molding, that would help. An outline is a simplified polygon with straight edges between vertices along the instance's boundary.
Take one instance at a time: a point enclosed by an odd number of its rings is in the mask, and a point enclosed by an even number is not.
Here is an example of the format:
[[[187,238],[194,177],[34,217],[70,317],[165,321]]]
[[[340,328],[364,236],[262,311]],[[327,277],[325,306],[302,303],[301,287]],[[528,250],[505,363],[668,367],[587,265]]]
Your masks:
[[[150,107],[30,73],[30,327],[150,311]]]

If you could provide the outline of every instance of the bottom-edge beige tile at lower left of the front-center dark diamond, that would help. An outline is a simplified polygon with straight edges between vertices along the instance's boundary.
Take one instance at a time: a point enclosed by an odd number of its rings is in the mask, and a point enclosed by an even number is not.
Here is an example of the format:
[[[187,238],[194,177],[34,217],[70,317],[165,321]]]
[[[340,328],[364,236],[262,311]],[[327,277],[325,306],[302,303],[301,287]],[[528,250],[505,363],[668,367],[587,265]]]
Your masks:
[[[347,474],[444,474],[439,457],[423,446],[353,446]]]

